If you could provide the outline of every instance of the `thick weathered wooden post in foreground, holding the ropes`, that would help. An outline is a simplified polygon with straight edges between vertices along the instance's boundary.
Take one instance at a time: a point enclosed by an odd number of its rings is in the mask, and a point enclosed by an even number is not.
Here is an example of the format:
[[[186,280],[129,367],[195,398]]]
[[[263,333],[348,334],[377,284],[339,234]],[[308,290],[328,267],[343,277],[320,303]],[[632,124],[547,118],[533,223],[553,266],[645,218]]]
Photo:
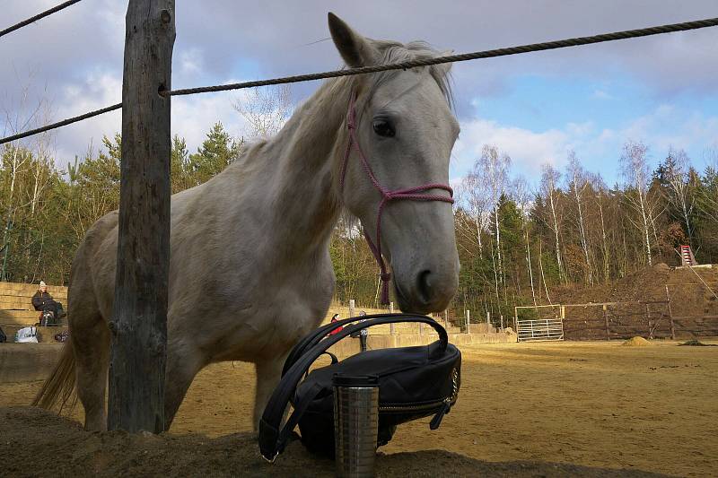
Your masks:
[[[165,430],[174,0],[129,0],[109,430]]]

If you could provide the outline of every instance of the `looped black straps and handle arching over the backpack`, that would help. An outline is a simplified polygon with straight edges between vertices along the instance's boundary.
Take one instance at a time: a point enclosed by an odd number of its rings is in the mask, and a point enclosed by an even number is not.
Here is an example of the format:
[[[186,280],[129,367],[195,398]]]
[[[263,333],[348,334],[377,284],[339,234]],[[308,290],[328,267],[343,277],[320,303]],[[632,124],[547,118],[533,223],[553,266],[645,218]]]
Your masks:
[[[358,320],[362,320],[363,322],[353,326],[346,326],[336,335],[323,338],[328,334],[329,330],[346,324],[352,324]],[[295,345],[290,356],[285,361],[283,377],[269,398],[264,413],[262,413],[262,418],[259,420],[259,451],[262,456],[268,461],[274,462],[276,456],[284,450],[289,434],[292,432],[296,423],[299,422],[303,408],[306,408],[306,406],[300,407],[302,408],[301,412],[299,409],[295,411],[290,420],[285,424],[285,427],[280,430],[286,406],[289,404],[294,390],[296,390],[304,372],[311,367],[311,364],[316,361],[323,352],[347,335],[351,335],[363,328],[400,322],[417,322],[432,326],[439,335],[439,352],[446,351],[446,347],[449,344],[449,336],[446,334],[446,330],[442,325],[433,320],[433,318],[413,314],[377,314],[338,320],[327,326],[321,326],[313,334],[308,335],[302,339],[300,343]],[[311,348],[305,352],[309,347]],[[290,360],[292,362],[290,362]],[[289,364],[288,367],[287,364]]]

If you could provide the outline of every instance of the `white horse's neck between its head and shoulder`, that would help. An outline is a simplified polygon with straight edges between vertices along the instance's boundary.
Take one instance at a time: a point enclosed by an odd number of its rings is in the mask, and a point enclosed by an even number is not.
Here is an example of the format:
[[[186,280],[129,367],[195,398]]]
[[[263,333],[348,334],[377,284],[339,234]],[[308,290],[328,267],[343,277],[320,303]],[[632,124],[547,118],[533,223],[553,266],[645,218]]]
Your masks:
[[[345,78],[323,84],[265,146],[272,233],[292,255],[316,253],[337,222],[334,175],[346,143],[350,84]]]

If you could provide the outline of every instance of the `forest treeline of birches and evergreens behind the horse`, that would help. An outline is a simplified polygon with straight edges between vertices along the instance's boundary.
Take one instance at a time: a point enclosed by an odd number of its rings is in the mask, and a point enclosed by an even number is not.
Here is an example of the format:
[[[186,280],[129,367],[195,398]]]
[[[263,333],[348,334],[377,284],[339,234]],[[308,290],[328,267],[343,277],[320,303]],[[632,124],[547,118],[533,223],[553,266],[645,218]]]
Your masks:
[[[4,145],[0,279],[67,283],[85,230],[118,208],[120,142],[119,135],[105,137],[97,151],[65,167],[42,141]],[[197,152],[175,136],[172,192],[212,178],[242,147],[219,123]],[[616,153],[622,178],[616,185],[584,169],[577,152],[568,152],[565,168],[544,165],[530,184],[512,175],[508,155],[484,146],[456,192],[461,272],[452,309],[509,317],[516,304],[550,303],[556,288],[678,264],[681,244],[693,248],[699,263],[718,262],[718,152],[706,150],[702,170],[686,152],[651,152],[641,142],[626,142]],[[340,223],[333,236],[336,295],[370,307],[378,298],[378,268],[359,227]]]

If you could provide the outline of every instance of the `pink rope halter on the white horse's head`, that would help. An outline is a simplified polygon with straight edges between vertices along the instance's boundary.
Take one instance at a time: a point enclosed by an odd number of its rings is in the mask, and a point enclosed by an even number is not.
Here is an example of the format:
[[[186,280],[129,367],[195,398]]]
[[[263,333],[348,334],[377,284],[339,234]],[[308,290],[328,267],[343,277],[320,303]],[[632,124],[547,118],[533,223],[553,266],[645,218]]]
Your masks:
[[[451,187],[447,185],[438,183],[425,184],[424,186],[407,187],[406,189],[396,189],[394,191],[390,191],[386,187],[381,186],[379,180],[377,180],[376,176],[374,176],[372,167],[369,166],[369,162],[366,161],[366,157],[364,157],[362,148],[359,147],[359,140],[356,138],[356,109],[354,92],[352,92],[352,96],[349,100],[349,112],[346,115],[346,128],[349,131],[349,141],[346,143],[344,160],[342,161],[342,168],[339,173],[339,187],[344,190],[346,165],[349,162],[349,154],[352,152],[352,148],[354,148],[356,150],[356,153],[359,155],[359,160],[362,161],[362,167],[364,169],[364,172],[366,172],[366,175],[369,176],[369,179],[372,181],[372,185],[374,185],[374,187],[376,187],[381,193],[379,214],[376,218],[376,242],[372,241],[372,238],[369,237],[369,235],[366,233],[366,230],[364,230],[364,238],[369,244],[369,248],[372,249],[372,254],[376,259],[377,264],[379,264],[379,269],[381,271],[381,304],[388,304],[389,282],[391,281],[391,273],[387,272],[387,266],[384,263],[383,257],[381,256],[381,213],[384,210],[384,205],[387,204],[389,201],[395,201],[399,199],[409,199],[412,201],[443,201],[444,203],[453,204],[454,200],[451,197],[453,196],[453,189],[451,189]],[[423,193],[423,191],[426,191],[427,189],[443,189],[445,191],[449,191],[450,196],[447,197]]]

